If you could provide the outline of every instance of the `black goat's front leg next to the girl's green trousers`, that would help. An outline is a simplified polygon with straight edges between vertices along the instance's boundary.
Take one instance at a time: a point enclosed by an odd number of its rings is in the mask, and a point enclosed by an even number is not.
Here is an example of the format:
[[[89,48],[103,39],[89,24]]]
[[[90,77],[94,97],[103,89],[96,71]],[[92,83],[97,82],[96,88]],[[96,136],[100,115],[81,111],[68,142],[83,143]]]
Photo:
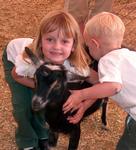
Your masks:
[[[55,147],[57,145],[59,133],[54,132],[51,129],[49,130],[49,146],[50,147]]]

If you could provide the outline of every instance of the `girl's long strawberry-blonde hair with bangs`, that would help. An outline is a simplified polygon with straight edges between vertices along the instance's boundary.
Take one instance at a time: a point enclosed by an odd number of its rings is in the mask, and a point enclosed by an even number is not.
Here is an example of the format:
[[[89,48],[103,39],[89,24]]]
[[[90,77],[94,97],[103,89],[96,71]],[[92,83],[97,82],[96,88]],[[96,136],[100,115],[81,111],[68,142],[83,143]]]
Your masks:
[[[71,55],[68,58],[70,63],[79,70],[87,67],[89,57],[82,46],[81,33],[78,23],[72,15],[64,11],[52,11],[42,19],[37,36],[29,48],[33,49],[39,58],[44,59],[41,48],[42,36],[58,29],[60,34],[63,34],[66,37],[72,37],[74,39],[74,51],[71,52]]]

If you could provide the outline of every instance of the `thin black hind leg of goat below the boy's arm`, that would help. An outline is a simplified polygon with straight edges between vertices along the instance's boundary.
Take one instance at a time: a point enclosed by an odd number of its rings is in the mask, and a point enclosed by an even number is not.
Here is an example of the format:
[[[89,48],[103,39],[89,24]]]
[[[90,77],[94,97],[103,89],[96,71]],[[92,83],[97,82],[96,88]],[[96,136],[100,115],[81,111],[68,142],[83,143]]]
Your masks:
[[[108,102],[108,97],[103,99],[103,104],[102,104],[101,120],[102,120],[102,127],[103,128],[106,128],[106,125],[107,125],[107,121],[106,121],[107,102]]]

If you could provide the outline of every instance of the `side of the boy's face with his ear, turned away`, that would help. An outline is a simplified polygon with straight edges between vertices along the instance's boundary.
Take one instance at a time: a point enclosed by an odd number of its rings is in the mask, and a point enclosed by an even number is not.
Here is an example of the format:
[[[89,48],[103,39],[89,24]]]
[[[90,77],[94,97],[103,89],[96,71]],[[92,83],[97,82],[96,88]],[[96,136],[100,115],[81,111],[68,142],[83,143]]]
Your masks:
[[[89,47],[90,55],[95,59],[99,60],[101,58],[101,51],[99,48],[99,43],[96,39],[88,36],[87,33],[84,33],[84,40],[86,45]]]

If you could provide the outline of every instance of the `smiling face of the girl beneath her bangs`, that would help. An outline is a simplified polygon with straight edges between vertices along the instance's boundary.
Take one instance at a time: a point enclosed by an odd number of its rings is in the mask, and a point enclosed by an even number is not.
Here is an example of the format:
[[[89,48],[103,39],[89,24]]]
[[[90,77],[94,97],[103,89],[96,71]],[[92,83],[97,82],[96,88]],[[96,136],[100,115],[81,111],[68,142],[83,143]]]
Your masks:
[[[74,50],[73,43],[73,38],[65,37],[59,30],[55,30],[43,35],[42,52],[52,63],[63,64]]]

